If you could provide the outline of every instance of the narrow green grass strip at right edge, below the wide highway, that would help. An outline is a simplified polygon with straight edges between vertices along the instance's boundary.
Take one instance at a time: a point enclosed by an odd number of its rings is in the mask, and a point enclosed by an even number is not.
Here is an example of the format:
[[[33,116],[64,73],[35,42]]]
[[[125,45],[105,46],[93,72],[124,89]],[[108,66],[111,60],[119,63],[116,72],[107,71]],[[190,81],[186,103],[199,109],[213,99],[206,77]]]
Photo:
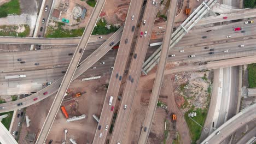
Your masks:
[[[249,87],[250,88],[256,87],[256,73],[255,73],[256,63],[248,64],[247,70],[248,70]]]

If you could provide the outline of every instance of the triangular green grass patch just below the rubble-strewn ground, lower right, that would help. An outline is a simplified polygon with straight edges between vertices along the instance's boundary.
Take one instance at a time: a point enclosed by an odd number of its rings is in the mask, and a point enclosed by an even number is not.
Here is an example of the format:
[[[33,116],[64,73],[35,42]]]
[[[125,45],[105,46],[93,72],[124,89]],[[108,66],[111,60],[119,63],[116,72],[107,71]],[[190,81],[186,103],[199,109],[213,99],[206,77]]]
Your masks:
[[[203,109],[203,110],[202,109],[196,109],[196,110],[190,109],[184,115],[185,120],[189,127],[189,132],[190,132],[190,136],[192,139],[192,143],[196,143],[196,141],[199,140],[199,138],[200,138],[202,128],[188,117],[188,113],[190,113],[192,111],[196,112],[196,117],[193,117],[193,119],[200,125],[203,125],[205,123],[205,119],[207,116],[207,109]]]

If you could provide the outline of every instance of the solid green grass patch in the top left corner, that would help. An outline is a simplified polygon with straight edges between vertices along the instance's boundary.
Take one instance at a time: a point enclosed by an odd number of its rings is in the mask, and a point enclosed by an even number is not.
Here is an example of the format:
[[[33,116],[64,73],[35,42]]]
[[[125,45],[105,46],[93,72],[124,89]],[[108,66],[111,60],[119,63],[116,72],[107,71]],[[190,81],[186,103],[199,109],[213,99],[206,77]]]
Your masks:
[[[0,17],[7,17],[8,14],[21,14],[19,0],[11,0],[0,6]]]

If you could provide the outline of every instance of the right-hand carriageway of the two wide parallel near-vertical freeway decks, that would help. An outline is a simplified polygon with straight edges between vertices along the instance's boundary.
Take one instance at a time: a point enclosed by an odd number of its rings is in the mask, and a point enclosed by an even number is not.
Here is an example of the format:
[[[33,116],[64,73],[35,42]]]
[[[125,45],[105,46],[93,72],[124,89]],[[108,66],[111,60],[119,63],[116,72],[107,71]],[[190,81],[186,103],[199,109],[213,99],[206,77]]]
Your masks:
[[[160,1],[155,1],[160,3]],[[118,143],[123,141],[126,124],[132,107],[133,98],[137,89],[139,77],[141,76],[142,64],[144,62],[150,35],[152,33],[155,15],[158,10],[158,5],[152,4],[152,1],[147,1],[144,15],[142,18],[141,27],[139,28],[139,36],[135,45],[135,51],[131,60],[129,73],[127,74],[126,85],[124,87],[121,104],[118,110],[117,119],[115,119],[114,129],[110,143]],[[143,21],[146,20],[145,25]],[[145,32],[147,31],[147,34]],[[135,56],[137,55],[137,56]],[[127,108],[125,109],[125,105]]]

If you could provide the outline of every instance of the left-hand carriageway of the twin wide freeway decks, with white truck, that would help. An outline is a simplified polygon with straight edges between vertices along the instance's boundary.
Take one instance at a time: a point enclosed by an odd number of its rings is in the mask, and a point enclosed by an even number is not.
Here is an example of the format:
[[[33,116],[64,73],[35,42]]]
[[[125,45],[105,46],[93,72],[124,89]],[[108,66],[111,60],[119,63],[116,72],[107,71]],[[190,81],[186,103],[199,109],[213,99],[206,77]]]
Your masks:
[[[110,126],[110,122],[112,120],[112,107],[115,106],[115,101],[117,101],[119,88],[121,86],[121,81],[123,80],[126,69],[126,64],[130,58],[133,37],[136,35],[135,29],[139,20],[139,13],[141,12],[142,3],[142,0],[132,0],[130,3],[129,11],[127,13],[124,25],[123,35],[121,37],[119,50],[117,53],[117,58],[115,59],[114,69],[112,71],[108,91],[101,111],[100,122],[98,123],[98,127],[103,128],[96,130],[93,141],[94,143],[104,143],[106,141],[106,137],[110,127],[107,128],[107,130],[104,130],[104,128],[106,129],[107,125]],[[127,37],[127,35],[129,35],[129,37]],[[113,97],[111,106],[109,105],[110,97]]]

